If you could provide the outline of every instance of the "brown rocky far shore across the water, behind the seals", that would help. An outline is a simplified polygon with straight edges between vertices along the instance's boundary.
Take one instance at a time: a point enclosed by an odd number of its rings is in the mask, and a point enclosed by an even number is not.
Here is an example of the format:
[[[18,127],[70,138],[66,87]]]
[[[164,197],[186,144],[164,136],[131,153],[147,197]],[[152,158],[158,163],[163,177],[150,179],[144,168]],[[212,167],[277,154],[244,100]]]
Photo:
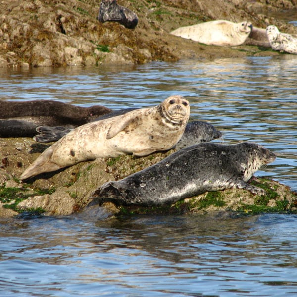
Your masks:
[[[269,2],[267,4],[266,2]],[[259,46],[206,46],[171,35],[172,30],[213,19],[250,21],[297,34],[297,27],[268,17],[296,9],[295,0],[119,0],[139,19],[135,29],[97,20],[99,0],[3,0],[0,2],[0,67],[141,64],[155,60],[276,55]]]

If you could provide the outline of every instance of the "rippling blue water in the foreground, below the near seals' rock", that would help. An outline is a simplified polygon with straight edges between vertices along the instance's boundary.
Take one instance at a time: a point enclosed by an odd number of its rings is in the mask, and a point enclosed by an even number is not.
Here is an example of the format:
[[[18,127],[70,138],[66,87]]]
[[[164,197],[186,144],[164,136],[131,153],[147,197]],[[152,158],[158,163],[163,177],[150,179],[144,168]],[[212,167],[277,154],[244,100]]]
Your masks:
[[[0,291],[19,296],[296,296],[296,222],[294,215],[226,214],[97,222],[45,217],[13,221],[11,228],[2,222]]]

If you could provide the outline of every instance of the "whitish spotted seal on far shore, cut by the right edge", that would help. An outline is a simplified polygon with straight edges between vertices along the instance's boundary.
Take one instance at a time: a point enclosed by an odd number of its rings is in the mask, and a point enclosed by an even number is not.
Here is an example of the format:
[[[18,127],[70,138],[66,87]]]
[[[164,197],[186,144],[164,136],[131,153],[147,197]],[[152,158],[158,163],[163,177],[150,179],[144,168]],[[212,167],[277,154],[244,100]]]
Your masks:
[[[268,26],[266,33],[273,50],[297,54],[297,38],[281,33],[276,26]]]

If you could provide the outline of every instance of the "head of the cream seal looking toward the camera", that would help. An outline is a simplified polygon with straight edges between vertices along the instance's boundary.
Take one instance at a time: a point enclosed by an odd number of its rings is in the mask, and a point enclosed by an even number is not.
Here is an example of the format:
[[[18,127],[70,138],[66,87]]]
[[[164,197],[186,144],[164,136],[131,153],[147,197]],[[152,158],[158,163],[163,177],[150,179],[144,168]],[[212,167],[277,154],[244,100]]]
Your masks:
[[[183,96],[169,96],[160,107],[163,116],[173,124],[186,124],[189,120],[190,105]]]

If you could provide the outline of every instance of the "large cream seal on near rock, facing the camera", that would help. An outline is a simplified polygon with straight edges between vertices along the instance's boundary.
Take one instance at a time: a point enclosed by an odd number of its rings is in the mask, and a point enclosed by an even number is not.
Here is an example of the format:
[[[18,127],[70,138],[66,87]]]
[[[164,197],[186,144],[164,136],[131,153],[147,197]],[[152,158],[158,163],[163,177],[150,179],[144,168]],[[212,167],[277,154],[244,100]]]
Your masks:
[[[189,116],[189,102],[174,95],[152,108],[82,125],[47,148],[20,179],[99,157],[168,150],[182,137]]]

